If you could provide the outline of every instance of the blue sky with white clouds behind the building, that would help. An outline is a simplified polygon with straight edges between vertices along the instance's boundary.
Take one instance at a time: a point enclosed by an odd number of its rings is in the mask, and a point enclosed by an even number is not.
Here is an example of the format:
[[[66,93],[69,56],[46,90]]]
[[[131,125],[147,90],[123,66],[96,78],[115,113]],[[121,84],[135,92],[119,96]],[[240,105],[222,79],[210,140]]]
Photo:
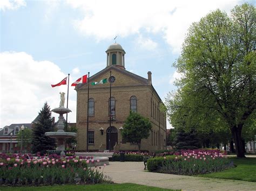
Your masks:
[[[249,1],[252,3],[253,1]],[[106,49],[122,45],[126,70],[147,78],[162,101],[181,75],[172,67],[188,27],[211,11],[230,13],[244,1],[0,1],[0,128],[31,123],[45,102],[59,106],[52,88],[106,67]],[[69,90],[68,121],[76,122],[76,91]],[[57,114],[53,114],[57,117]],[[167,122],[167,128],[171,125]]]

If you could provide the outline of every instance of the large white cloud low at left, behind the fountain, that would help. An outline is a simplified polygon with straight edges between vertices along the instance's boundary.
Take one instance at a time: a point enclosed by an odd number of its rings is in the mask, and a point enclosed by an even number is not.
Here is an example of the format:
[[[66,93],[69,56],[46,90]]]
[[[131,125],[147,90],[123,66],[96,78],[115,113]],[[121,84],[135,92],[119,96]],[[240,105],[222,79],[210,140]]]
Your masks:
[[[25,52],[0,53],[0,127],[12,123],[30,123],[45,102],[51,109],[59,106],[59,91],[67,86],[52,88],[64,79],[61,69],[50,61],[36,61]],[[43,72],[42,72],[43,71]],[[72,81],[73,79],[71,79]],[[68,121],[76,121],[76,91],[69,92]],[[53,116],[58,117],[57,114]]]

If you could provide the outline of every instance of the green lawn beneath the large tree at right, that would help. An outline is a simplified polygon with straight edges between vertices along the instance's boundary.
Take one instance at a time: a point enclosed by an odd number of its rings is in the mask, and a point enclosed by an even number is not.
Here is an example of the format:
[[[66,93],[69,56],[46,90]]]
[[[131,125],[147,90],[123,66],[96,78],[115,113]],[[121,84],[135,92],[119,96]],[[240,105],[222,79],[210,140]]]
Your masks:
[[[230,179],[230,180],[244,180],[256,182],[256,158],[235,158],[230,160],[234,162],[237,167],[227,169],[226,171],[203,174],[199,176],[215,178],[215,179]]]

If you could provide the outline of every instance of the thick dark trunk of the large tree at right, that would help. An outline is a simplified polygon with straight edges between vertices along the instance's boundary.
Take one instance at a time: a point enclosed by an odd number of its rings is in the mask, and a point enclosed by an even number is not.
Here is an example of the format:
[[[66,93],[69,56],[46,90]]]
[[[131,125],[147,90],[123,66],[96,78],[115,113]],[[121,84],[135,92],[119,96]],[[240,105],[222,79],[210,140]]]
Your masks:
[[[244,149],[242,148],[242,124],[239,124],[238,126],[233,126],[231,129],[232,136],[234,138],[235,142],[235,152],[237,154],[237,157],[239,158],[245,158]]]

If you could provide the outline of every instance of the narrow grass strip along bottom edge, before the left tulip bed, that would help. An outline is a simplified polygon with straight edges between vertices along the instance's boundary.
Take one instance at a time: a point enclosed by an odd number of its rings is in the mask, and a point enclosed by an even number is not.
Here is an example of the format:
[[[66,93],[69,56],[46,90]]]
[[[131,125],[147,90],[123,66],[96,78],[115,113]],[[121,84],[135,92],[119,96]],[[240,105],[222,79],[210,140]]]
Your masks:
[[[40,186],[40,187],[0,187],[0,190],[170,190],[134,183],[120,184],[97,184],[97,185],[62,185],[62,186]]]

